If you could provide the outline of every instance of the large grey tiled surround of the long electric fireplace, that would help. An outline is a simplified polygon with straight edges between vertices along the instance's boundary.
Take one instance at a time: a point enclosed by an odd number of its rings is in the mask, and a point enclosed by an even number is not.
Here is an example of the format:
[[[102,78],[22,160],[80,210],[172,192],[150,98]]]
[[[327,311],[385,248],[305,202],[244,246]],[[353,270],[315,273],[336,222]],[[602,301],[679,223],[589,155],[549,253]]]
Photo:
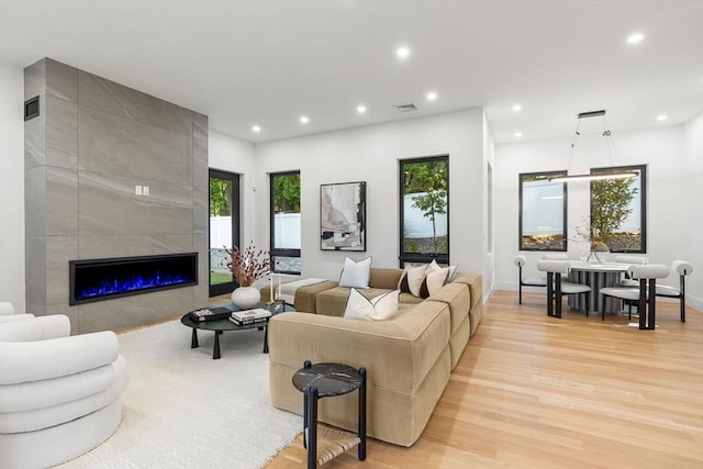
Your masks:
[[[66,314],[76,334],[204,304],[208,118],[49,58],[25,68],[24,94],[40,97],[24,124],[27,312]],[[68,304],[69,260],[188,252],[198,286]]]

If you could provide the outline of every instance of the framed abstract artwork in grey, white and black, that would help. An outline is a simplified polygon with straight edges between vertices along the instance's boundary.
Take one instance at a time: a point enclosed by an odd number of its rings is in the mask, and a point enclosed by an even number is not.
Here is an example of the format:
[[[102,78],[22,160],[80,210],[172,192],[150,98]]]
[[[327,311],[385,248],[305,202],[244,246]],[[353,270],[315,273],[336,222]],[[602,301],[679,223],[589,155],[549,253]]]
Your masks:
[[[366,250],[366,181],[320,186],[320,248]]]

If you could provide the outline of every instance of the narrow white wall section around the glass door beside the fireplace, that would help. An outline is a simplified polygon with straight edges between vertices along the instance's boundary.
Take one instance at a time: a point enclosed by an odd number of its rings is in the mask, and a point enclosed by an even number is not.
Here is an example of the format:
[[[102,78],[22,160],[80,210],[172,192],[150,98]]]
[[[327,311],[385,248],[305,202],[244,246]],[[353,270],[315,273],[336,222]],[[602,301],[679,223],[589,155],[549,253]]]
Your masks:
[[[254,177],[254,145],[239,138],[210,129],[208,133],[208,160],[210,168],[234,172],[239,176],[241,244],[255,239],[256,211],[253,208],[259,193],[267,188],[256,188]],[[266,210],[268,214],[268,209]],[[268,215],[267,215],[268,216]],[[268,220],[268,217],[267,217]]]

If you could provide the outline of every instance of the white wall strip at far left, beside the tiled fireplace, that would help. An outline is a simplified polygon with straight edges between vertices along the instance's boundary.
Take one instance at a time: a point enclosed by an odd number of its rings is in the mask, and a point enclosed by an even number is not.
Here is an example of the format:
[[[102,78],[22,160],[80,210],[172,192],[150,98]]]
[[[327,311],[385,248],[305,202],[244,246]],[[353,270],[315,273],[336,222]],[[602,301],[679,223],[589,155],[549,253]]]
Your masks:
[[[24,312],[24,72],[0,63],[0,301]]]

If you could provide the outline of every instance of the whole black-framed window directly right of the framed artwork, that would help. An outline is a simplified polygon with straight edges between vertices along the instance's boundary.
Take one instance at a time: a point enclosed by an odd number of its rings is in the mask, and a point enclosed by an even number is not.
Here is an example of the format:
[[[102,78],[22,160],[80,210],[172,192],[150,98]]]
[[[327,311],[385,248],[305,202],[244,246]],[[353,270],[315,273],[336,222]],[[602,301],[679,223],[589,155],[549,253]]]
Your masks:
[[[449,157],[400,160],[400,266],[449,264]]]

